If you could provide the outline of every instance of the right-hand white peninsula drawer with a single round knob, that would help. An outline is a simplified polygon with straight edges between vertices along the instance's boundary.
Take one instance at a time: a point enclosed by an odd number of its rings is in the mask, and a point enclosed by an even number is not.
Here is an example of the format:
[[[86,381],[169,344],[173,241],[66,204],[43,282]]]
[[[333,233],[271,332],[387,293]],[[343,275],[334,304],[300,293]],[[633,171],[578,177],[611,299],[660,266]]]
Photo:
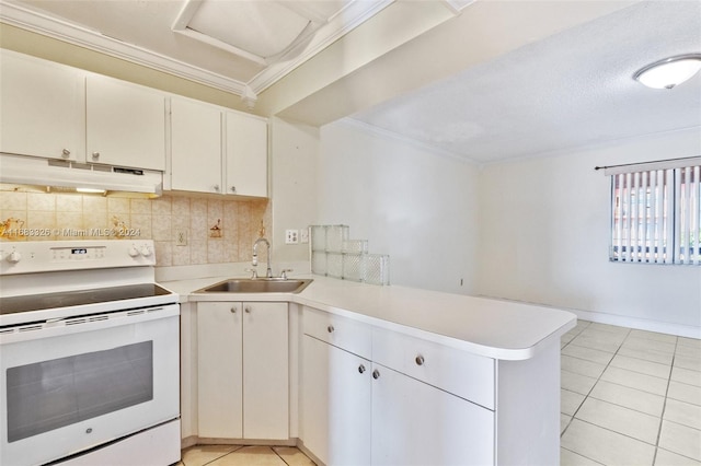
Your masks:
[[[494,360],[395,331],[372,330],[372,361],[494,409]]]

